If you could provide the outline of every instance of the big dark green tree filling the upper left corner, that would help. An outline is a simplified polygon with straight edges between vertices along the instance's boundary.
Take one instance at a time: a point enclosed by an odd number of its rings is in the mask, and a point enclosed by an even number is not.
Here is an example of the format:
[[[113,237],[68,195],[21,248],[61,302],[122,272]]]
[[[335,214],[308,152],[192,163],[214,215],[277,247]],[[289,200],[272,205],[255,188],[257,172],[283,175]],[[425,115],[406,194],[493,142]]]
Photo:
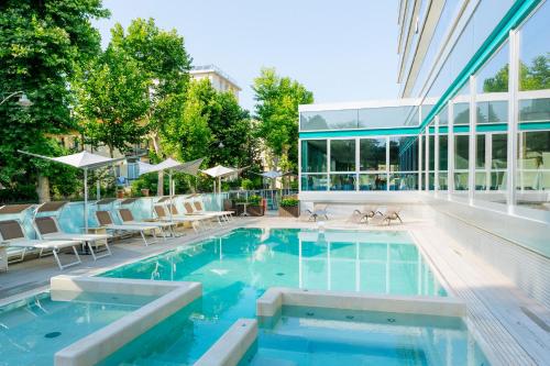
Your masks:
[[[99,32],[90,19],[108,16],[100,0],[0,2],[0,92],[22,90],[34,103],[28,110],[16,99],[0,106],[0,167],[11,189],[37,180],[41,201],[50,199],[48,164],[40,169],[16,153],[28,149],[51,155],[50,136],[75,127],[70,118],[76,65],[99,52]]]

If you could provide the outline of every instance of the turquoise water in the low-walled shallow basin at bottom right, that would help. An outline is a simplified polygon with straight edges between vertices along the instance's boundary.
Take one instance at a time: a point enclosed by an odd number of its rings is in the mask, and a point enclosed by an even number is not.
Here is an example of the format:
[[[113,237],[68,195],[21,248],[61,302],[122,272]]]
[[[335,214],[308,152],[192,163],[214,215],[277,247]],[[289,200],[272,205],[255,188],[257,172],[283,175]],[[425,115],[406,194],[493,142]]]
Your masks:
[[[488,365],[460,318],[285,306],[240,365]]]

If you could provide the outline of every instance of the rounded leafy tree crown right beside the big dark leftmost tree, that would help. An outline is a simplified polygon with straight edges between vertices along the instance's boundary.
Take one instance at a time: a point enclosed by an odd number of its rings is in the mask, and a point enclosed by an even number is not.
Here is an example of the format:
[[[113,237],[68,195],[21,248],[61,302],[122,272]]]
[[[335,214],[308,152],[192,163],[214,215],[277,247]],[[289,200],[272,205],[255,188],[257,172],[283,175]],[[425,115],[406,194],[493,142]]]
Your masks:
[[[140,143],[147,131],[141,120],[148,108],[148,78],[136,62],[109,45],[79,77],[75,112],[85,121],[86,142],[105,144],[111,157],[114,149],[127,152]]]

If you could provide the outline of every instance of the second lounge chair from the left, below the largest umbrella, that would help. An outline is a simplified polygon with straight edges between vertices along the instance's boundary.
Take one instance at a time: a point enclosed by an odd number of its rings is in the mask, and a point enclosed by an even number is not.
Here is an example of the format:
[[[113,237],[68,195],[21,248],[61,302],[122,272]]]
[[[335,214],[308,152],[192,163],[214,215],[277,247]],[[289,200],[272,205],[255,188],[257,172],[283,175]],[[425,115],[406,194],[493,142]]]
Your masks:
[[[66,233],[59,229],[59,224],[54,217],[40,217],[34,218],[34,229],[41,239],[44,240],[62,240],[62,241],[79,241],[85,243],[85,245],[90,251],[91,257],[94,260],[99,258],[107,257],[111,255],[111,248],[109,247],[108,240],[111,239],[111,235],[107,234],[78,234],[78,233]],[[106,253],[101,255],[97,255],[94,251],[94,246],[96,251],[98,246],[103,245],[106,248]]]

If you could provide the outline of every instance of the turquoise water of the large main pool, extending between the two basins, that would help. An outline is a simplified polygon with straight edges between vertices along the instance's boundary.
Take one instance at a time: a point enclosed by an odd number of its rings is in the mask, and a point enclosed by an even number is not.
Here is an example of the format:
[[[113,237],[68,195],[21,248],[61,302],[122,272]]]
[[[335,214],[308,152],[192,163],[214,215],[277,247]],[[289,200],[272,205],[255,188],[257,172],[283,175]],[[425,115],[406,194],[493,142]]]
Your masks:
[[[406,232],[238,229],[102,276],[202,282],[200,299],[105,361],[197,361],[268,287],[446,296]]]

